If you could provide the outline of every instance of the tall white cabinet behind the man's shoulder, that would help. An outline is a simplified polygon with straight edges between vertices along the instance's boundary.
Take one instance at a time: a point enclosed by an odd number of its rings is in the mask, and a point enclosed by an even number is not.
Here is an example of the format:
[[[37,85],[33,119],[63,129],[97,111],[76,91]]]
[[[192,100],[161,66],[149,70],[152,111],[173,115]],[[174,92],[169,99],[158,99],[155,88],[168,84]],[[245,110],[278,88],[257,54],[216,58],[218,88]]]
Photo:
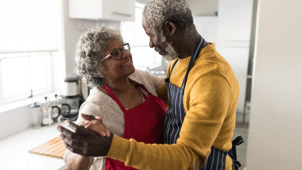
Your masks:
[[[218,1],[216,49],[229,62],[239,82],[238,116],[242,116],[246,100],[252,12],[253,0]]]

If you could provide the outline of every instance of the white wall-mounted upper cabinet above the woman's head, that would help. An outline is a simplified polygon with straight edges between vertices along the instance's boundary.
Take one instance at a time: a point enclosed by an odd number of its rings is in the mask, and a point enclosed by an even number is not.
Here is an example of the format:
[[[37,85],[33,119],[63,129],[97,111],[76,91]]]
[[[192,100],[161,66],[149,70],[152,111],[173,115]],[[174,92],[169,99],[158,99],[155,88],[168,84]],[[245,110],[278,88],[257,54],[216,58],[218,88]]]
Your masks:
[[[135,0],[68,0],[68,17],[134,21]]]

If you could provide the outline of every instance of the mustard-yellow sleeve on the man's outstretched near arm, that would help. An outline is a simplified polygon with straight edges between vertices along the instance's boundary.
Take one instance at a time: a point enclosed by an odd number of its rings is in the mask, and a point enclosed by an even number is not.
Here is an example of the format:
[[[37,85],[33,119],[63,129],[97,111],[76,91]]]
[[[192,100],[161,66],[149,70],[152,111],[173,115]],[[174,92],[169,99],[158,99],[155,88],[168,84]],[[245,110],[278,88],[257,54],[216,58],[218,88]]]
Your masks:
[[[229,111],[232,95],[228,82],[218,73],[207,74],[191,87],[177,144],[144,144],[113,137],[107,157],[138,169],[187,169],[199,155],[205,156]]]

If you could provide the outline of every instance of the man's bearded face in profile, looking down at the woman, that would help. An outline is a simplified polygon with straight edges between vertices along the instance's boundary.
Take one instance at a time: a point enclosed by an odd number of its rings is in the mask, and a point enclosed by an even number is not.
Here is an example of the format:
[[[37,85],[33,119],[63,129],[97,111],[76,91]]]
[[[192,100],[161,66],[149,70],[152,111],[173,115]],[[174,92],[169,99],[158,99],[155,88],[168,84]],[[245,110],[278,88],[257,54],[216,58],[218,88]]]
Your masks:
[[[154,47],[154,50],[162,55],[167,61],[175,60],[180,56],[180,53],[177,51],[172,41],[169,41],[163,32],[160,33],[155,28],[147,28],[145,15],[143,15],[142,18],[142,25],[146,34],[150,38],[150,48]]]

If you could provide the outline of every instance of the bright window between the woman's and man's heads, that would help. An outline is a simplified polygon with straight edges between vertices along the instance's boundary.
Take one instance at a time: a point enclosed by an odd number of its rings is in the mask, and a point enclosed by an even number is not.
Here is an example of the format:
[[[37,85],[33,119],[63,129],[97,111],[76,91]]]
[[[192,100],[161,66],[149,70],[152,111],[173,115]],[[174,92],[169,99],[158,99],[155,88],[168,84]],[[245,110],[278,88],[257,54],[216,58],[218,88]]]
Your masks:
[[[133,65],[139,70],[166,71],[167,62],[149,47],[149,37],[142,26],[144,4],[135,2],[135,6],[135,21],[120,24],[123,38],[131,48]]]

